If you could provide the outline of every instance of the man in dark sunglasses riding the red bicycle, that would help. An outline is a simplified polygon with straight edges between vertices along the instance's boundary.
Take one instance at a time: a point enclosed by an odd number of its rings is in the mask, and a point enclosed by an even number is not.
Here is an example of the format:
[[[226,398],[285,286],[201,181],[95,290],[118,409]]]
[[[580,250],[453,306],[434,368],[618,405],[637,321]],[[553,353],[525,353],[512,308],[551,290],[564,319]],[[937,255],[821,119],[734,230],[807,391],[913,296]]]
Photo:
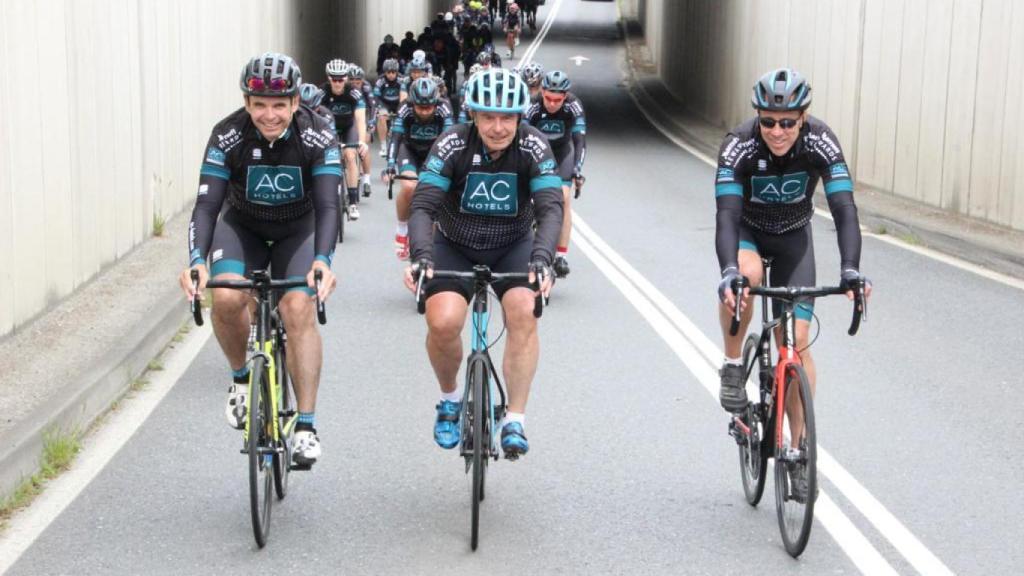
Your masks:
[[[753,312],[750,296],[744,294],[740,298],[740,328],[730,336],[736,305],[732,282],[744,276],[753,286],[759,286],[764,277],[761,257],[770,256],[772,284],[815,285],[811,195],[819,179],[836,221],[842,285],[863,278],[853,179],[839,138],[824,122],[807,114],[810,84],[791,69],[773,70],[754,85],[752,104],[758,115],[726,135],[715,178],[715,243],[722,271],[719,319],[726,357],[720,371],[719,400],[730,412],[746,407],[740,346]],[[852,291],[847,295],[853,298]],[[798,302],[797,349],[813,390],[814,360],[807,341],[814,302]]]

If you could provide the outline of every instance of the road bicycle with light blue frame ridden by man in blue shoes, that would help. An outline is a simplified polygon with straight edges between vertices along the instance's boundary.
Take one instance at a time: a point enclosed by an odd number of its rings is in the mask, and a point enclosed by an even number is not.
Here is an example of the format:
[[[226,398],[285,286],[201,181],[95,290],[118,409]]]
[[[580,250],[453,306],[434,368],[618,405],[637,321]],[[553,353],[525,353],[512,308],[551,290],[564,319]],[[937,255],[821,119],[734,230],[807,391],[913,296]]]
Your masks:
[[[420,270],[423,270],[422,264]],[[538,291],[538,296],[534,302],[534,316],[541,318],[544,313],[544,301],[540,295],[540,289],[544,282],[544,271],[537,268],[535,273],[536,280],[531,287]],[[416,284],[416,307],[420,314],[426,312],[426,298],[423,297],[424,277],[425,274],[421,272]],[[459,455],[466,461],[466,474],[472,471],[470,546],[475,550],[480,529],[480,502],[483,501],[484,496],[487,462],[492,459],[498,460],[498,443],[501,436],[498,426],[501,424],[502,418],[505,417],[507,407],[505,387],[502,385],[488,352],[490,346],[495,344],[495,342],[487,341],[489,288],[493,282],[527,280],[528,275],[525,273],[495,273],[485,265],[475,265],[473,272],[435,270],[433,278],[473,282],[472,351],[466,359],[466,385],[463,388],[462,412],[459,416],[461,431]],[[500,337],[501,335],[499,335]],[[497,397],[495,393],[497,393]],[[514,459],[515,456],[507,454],[506,458]]]

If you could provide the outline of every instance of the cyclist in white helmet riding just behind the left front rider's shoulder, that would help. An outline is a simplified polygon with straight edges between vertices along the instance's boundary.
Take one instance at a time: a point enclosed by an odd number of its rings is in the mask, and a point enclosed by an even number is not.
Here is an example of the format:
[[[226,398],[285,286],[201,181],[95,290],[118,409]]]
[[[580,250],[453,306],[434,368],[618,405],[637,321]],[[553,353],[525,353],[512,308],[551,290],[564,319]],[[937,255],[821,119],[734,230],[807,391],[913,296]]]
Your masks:
[[[348,191],[348,219],[359,219],[359,165],[358,161],[367,153],[367,102],[362,90],[357,90],[348,81],[349,65],[335,58],[327,63],[327,83],[324,91],[324,106],[334,114],[338,139],[345,149],[345,189]],[[357,148],[354,148],[357,147]],[[356,153],[358,151],[358,153]]]

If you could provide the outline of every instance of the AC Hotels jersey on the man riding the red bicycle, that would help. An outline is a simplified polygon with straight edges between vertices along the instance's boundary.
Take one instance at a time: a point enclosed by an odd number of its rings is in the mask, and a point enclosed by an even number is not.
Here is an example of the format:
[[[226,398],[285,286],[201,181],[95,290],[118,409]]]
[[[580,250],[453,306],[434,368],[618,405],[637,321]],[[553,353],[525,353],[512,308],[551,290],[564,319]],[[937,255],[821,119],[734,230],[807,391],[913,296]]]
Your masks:
[[[740,221],[770,235],[805,227],[814,214],[811,196],[819,178],[836,220],[842,266],[859,268],[860,224],[843,150],[828,126],[805,118],[796,143],[782,157],[762,139],[757,118],[726,135],[715,177],[716,250],[722,270],[737,265]]]

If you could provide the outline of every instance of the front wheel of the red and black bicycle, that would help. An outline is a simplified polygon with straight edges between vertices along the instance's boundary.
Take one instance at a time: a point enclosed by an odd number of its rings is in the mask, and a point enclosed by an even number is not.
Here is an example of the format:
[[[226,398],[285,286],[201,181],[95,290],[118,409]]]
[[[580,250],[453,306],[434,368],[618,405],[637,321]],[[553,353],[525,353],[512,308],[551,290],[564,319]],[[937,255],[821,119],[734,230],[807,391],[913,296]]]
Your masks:
[[[785,390],[786,396],[799,399],[798,405],[804,414],[804,429],[799,442],[799,454],[775,455],[775,511],[785,551],[797,558],[807,547],[807,539],[811,535],[818,490],[814,402],[807,373],[802,366],[790,365],[786,369]],[[783,422],[783,429],[788,429],[788,416]],[[806,490],[795,491],[795,478],[800,474],[806,475],[807,487]]]

